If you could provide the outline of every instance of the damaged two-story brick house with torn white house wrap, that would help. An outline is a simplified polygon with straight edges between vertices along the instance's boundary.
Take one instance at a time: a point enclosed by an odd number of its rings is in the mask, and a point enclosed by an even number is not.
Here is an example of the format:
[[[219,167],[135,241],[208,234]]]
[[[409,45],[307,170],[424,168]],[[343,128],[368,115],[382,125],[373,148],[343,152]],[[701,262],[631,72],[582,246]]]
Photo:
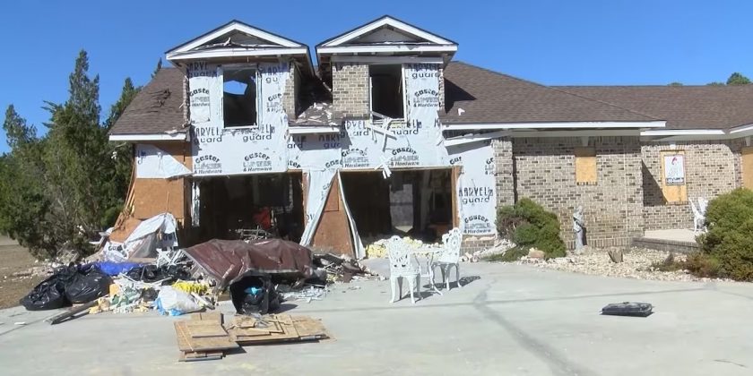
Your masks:
[[[692,226],[688,197],[753,181],[753,89],[546,87],[454,62],[457,48],[385,16],[318,44],[317,66],[239,21],[170,49],[175,68],[110,132],[135,166],[113,237],[170,212],[183,245],[261,228],[364,257],[368,239],[459,227],[473,248],[529,197],[568,244],[582,206],[589,244],[627,245]]]

